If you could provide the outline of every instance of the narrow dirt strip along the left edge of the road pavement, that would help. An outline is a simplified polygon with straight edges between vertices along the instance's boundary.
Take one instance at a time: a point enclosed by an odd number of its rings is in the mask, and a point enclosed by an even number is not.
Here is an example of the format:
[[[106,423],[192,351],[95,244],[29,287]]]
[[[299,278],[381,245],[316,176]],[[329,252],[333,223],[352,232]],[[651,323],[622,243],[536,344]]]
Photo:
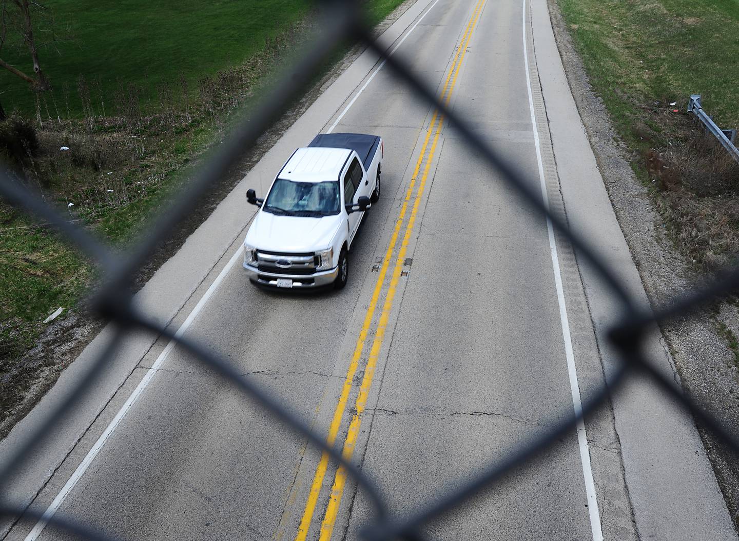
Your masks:
[[[395,22],[416,0],[406,0],[398,6],[387,18],[379,23],[374,30],[375,35],[384,32]],[[274,125],[259,138],[256,146],[245,155],[222,179],[216,187],[200,200],[194,212],[180,221],[177,228],[163,241],[157,252],[149,258],[134,277],[134,289],[138,291],[157,272],[185,240],[211,215],[217,205],[234,189],[249,170],[262,159],[262,156],[273,147],[275,142],[285,134],[288,128],[309,108],[313,102],[333,83],[350,65],[364,52],[363,46],[355,46],[336,63],[327,69],[304,95],[293,104]],[[197,165],[194,162],[191,165]],[[21,420],[44,396],[58,376],[84,350],[86,345],[98,334],[105,325],[105,321],[88,311],[78,311],[70,314],[57,323],[52,323],[41,335],[40,339],[27,354],[15,363],[2,375],[4,400],[12,403],[12,407],[4,411],[4,418],[0,421],[0,439],[4,438],[13,426]]]

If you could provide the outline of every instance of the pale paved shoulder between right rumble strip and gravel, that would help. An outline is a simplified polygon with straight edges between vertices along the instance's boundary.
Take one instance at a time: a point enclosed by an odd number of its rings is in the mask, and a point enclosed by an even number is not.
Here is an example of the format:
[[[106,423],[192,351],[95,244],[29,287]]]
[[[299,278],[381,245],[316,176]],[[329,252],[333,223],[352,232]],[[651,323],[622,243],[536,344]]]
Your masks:
[[[568,84],[546,2],[534,1],[532,16],[537,64],[568,221],[605,257],[630,294],[642,306],[649,306],[573,98],[573,93],[581,95],[587,87],[571,89]],[[605,115],[599,122],[606,123]],[[605,294],[593,269],[582,258],[579,266],[604,370],[610,373],[616,359],[604,334],[618,314],[613,314],[613,299]],[[650,333],[647,353],[664,373],[678,379],[658,329]],[[714,539],[735,539],[692,418],[675,409],[655,387],[633,380],[613,397],[613,413],[640,537],[688,540],[711,531]]]

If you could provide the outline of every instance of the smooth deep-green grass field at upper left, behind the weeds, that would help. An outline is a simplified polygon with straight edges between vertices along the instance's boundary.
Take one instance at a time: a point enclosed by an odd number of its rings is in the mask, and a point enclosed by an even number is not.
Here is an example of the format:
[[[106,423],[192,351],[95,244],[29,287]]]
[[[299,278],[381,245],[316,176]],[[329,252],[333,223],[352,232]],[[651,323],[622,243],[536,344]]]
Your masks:
[[[157,86],[192,88],[198,80],[234,66],[262,49],[265,39],[284,32],[304,17],[306,0],[49,0],[58,35],[69,39],[41,49],[41,67],[52,83],[62,116],[69,93],[72,114],[81,111],[78,78],[89,83],[92,102],[110,104],[119,83],[134,83],[148,103],[157,102]],[[39,18],[43,35],[44,22]],[[47,24],[49,26],[49,24]],[[33,74],[30,56],[3,49],[2,58]],[[6,111],[33,113],[27,83],[0,70],[0,100]],[[66,91],[66,92],[65,92]],[[53,108],[50,97],[49,107]],[[55,111],[52,109],[52,116]]]

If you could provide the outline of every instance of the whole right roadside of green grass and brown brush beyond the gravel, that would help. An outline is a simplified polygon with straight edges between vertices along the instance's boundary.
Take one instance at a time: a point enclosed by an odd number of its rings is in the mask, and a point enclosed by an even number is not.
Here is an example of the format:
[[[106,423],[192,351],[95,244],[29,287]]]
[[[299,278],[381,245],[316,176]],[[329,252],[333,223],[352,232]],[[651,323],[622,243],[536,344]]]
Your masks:
[[[739,128],[739,2],[558,3],[678,248],[703,272],[734,261],[739,166],[685,111],[689,94],[702,94],[719,125]]]

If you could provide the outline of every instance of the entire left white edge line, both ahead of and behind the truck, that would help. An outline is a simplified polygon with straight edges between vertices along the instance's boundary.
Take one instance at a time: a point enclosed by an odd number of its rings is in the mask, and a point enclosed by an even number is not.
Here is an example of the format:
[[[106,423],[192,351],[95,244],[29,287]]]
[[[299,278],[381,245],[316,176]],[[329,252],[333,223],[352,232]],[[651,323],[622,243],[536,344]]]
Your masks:
[[[395,51],[398,50],[398,47],[400,47],[403,44],[403,41],[406,41],[406,38],[415,30],[416,27],[418,27],[418,24],[420,24],[420,21],[423,21],[423,18],[426,17],[426,15],[429,14],[429,12],[432,10],[432,8],[438,4],[439,0],[435,0],[433,4],[431,4],[428,9],[426,10],[426,13],[423,13],[423,15],[418,18],[418,21],[415,22],[415,24],[406,32],[406,35],[403,36],[401,41],[398,42],[395,47],[392,48],[390,51],[390,55],[394,54]],[[372,75],[369,76],[369,79],[364,83],[364,85],[359,89],[359,92],[352,98],[352,100],[347,104],[347,106],[344,108],[344,111],[341,111],[341,114],[336,119],[336,122],[331,125],[331,127],[328,129],[327,133],[331,133],[334,128],[338,125],[339,122],[341,122],[341,119],[344,118],[344,115],[347,114],[347,111],[351,108],[351,106],[354,105],[357,98],[360,96],[362,92],[364,92],[365,89],[367,89],[367,86],[369,86],[369,83],[372,82],[372,79],[375,78],[375,75],[378,74],[378,72],[383,68],[386,61],[382,61],[382,63],[375,69],[374,72],[372,72]],[[231,268],[234,266],[234,263],[238,261],[239,256],[242,254],[244,250],[243,244],[241,247],[239,247],[238,250],[236,250],[236,253],[231,257],[231,261],[228,261],[226,266],[223,268],[223,270],[220,272],[214,283],[211,284],[211,286],[208,288],[208,291],[205,292],[205,294],[202,296],[200,301],[197,303],[195,308],[190,312],[190,315],[188,315],[187,319],[185,320],[185,323],[177,329],[177,333],[175,334],[176,337],[182,336],[185,331],[187,331],[188,327],[191,325],[191,323],[195,320],[197,317],[197,314],[200,313],[200,310],[202,310],[202,307],[205,306],[205,303],[208,302],[208,299],[211,297],[211,295],[216,291],[220,283],[222,282],[223,278],[228,274],[228,272],[231,270]],[[174,340],[171,340],[166,348],[162,351],[162,353],[159,354],[157,357],[157,360],[154,361],[154,364],[151,365],[151,368],[146,373],[146,376],[143,377],[143,379],[139,382],[139,385],[134,389],[134,392],[129,396],[129,399],[126,400],[126,404],[123,404],[123,407],[120,408],[118,411],[118,414],[116,414],[115,418],[111,421],[111,423],[108,425],[108,427],[105,429],[105,432],[103,432],[98,438],[98,441],[95,441],[95,445],[92,446],[92,449],[89,450],[83,461],[80,463],[79,466],[77,466],[77,469],[75,469],[75,472],[72,474],[72,477],[69,478],[67,481],[67,484],[64,485],[64,487],[61,489],[61,491],[58,493],[58,495],[54,498],[54,501],[52,501],[51,505],[47,508],[46,511],[44,511],[44,514],[41,516],[41,519],[38,520],[38,523],[33,527],[33,530],[30,531],[30,534],[26,536],[25,541],[35,541],[38,536],[41,534],[42,531],[44,531],[44,528],[46,528],[47,524],[49,523],[49,520],[56,514],[56,511],[59,509],[62,503],[64,503],[64,500],[67,498],[67,495],[69,495],[69,492],[72,491],[72,489],[77,484],[78,480],[84,475],[84,472],[86,472],[87,468],[90,464],[92,464],[92,461],[95,460],[95,457],[98,455],[98,452],[103,448],[103,446],[106,444],[106,441],[110,437],[110,435],[115,431],[115,429],[118,427],[118,424],[120,424],[120,421],[123,419],[123,417],[126,416],[126,413],[129,412],[131,407],[133,406],[134,402],[138,399],[138,397],[143,393],[143,390],[146,389],[146,386],[149,385],[149,382],[151,382],[151,379],[154,378],[154,374],[157,373],[157,370],[160,368],[160,366],[163,364],[165,359],[169,356],[169,353],[174,348]]]

